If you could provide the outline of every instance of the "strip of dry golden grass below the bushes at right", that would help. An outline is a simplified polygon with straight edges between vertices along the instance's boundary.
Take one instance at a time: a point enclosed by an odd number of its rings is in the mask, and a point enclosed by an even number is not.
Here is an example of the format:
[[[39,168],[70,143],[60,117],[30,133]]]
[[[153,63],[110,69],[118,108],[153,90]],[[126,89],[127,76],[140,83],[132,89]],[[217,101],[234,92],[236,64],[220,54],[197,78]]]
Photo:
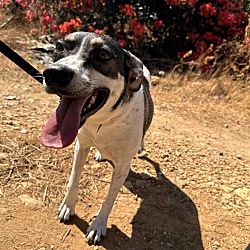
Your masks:
[[[164,90],[176,91],[181,101],[195,103],[220,102],[223,105],[239,104],[249,108],[250,85],[235,81],[230,76],[203,78],[195,73],[180,75],[171,72],[162,79]]]

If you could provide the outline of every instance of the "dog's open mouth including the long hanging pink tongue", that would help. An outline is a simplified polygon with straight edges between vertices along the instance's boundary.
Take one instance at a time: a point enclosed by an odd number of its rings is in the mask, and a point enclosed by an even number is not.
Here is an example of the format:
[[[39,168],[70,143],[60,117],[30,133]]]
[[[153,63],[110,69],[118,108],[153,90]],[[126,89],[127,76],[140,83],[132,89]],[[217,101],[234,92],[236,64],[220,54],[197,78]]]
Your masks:
[[[48,148],[65,148],[73,143],[86,119],[106,103],[108,89],[98,89],[90,96],[62,96],[57,109],[50,115],[41,135],[41,144]]]

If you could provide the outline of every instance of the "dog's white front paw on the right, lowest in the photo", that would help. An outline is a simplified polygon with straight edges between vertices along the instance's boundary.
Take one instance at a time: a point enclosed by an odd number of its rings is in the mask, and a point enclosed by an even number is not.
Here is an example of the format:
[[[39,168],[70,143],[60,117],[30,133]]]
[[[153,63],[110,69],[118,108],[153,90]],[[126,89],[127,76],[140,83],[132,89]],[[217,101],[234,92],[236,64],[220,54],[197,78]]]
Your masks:
[[[96,217],[92,224],[87,229],[88,243],[94,243],[101,241],[101,237],[106,235],[107,231],[107,218]]]

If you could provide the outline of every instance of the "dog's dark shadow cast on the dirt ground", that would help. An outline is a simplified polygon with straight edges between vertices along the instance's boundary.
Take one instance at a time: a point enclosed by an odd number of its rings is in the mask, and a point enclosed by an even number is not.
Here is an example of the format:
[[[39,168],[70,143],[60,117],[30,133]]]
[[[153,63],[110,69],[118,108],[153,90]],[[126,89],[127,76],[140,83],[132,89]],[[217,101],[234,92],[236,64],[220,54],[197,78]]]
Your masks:
[[[204,249],[195,204],[163,175],[158,163],[147,156],[140,159],[155,168],[157,178],[131,170],[125,182],[141,198],[140,208],[131,222],[132,236],[129,238],[112,225],[100,245],[108,250]],[[71,223],[86,233],[85,221],[75,217]]]

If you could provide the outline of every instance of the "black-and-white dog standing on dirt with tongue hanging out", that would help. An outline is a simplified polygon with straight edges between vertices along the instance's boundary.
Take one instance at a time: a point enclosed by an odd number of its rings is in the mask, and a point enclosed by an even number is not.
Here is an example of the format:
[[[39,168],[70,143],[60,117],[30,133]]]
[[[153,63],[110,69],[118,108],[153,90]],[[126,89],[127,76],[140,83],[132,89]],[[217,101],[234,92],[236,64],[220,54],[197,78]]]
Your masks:
[[[87,229],[88,242],[96,244],[106,235],[108,216],[131,160],[143,150],[154,112],[150,73],[111,37],[75,32],[56,43],[53,63],[43,76],[45,91],[61,99],[42,131],[41,144],[61,149],[76,139],[60,220],[75,214],[80,174],[91,146],[98,150],[99,160],[106,159],[114,168],[106,199]]]

